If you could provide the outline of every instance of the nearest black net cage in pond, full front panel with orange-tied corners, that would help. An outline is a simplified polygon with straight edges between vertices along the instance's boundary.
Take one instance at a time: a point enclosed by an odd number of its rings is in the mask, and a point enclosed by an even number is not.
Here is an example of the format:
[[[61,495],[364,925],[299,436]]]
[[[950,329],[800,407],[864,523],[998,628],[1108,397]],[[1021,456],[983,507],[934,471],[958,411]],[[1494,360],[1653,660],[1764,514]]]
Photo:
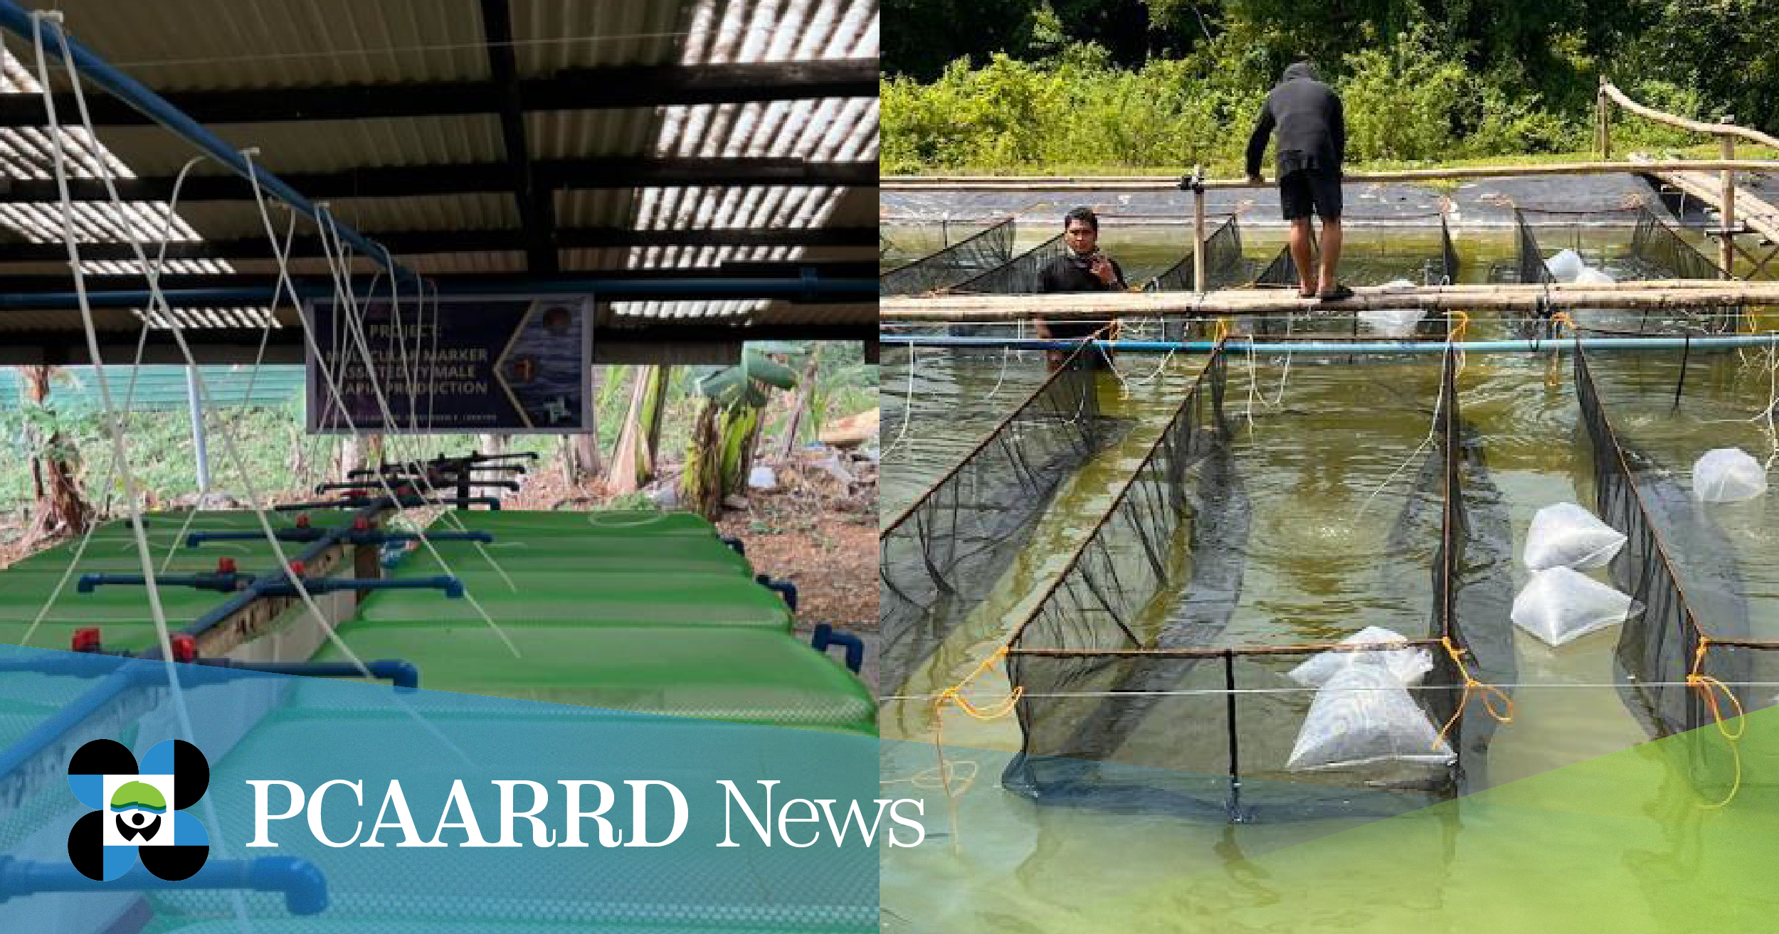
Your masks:
[[[1340,665],[1340,656],[1324,653],[1386,648],[1379,644],[1211,644],[1220,626],[1206,621],[1236,594],[1224,589],[1229,580],[1213,568],[1219,555],[1199,553],[1199,546],[1222,535],[1219,523],[1245,521],[1231,509],[1206,509],[1217,503],[1213,487],[1235,470],[1222,413],[1226,350],[1219,345],[1112,507],[1009,644],[1009,680],[1021,692],[1016,712],[1023,745],[1003,786],[1042,804],[1235,822],[1384,817],[1455,795],[1466,761],[1480,756],[1478,737],[1485,740],[1487,728],[1471,735],[1466,721],[1473,717],[1457,717],[1466,699],[1466,665],[1477,665],[1459,632],[1453,585],[1468,527],[1455,454],[1453,368],[1448,352],[1436,418],[1445,443],[1434,447],[1421,471],[1430,496],[1411,496],[1405,507],[1439,505],[1430,518],[1441,539],[1430,568],[1429,635],[1388,644],[1395,651],[1425,651],[1430,671],[1413,690],[1388,685],[1389,703],[1375,703],[1384,694],[1315,690],[1288,676],[1311,660]],[[1400,525],[1416,523],[1404,518]],[[1316,710],[1324,694],[1329,712]],[[1311,717],[1324,724],[1318,731],[1340,724],[1332,729],[1336,745],[1354,737],[1366,742],[1363,737],[1402,722],[1402,705],[1416,740],[1397,744],[1400,761],[1356,763],[1350,770],[1290,765]]]

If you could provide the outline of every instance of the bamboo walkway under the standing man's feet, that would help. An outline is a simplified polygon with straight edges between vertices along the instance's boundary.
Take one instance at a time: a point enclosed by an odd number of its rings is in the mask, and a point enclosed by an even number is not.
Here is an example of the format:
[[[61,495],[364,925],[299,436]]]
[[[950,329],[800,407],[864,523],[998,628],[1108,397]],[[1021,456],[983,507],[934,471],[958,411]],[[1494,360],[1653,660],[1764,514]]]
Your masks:
[[[1229,288],[1206,294],[1089,292],[1066,295],[943,295],[884,297],[882,320],[900,322],[1014,322],[1105,320],[1108,317],[1224,317],[1304,311],[1357,311],[1370,308],[1425,308],[1537,311],[1544,308],[1715,308],[1726,304],[1779,304],[1779,283],[1688,281],[1617,283],[1635,288],[1539,285],[1356,288],[1352,299],[1316,302],[1283,288]]]

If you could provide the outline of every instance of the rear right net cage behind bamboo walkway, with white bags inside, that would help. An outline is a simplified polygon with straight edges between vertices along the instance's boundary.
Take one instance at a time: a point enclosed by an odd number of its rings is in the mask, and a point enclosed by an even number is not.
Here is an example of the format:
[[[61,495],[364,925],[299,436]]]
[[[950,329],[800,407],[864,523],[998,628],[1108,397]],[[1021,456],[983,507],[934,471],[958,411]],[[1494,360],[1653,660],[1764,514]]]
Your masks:
[[[1624,229],[1631,233],[1630,240],[1615,233]],[[1491,281],[1555,283],[1546,262],[1562,249],[1573,249],[1587,267],[1617,281],[1729,278],[1642,201],[1585,212],[1514,208],[1514,262],[1494,267]],[[1523,336],[1550,336],[1550,317],[1555,311],[1558,310],[1546,310],[1521,320],[1517,331]],[[1576,327],[1601,334],[1720,334],[1736,331],[1743,320],[1742,306],[1562,311],[1567,311]]]

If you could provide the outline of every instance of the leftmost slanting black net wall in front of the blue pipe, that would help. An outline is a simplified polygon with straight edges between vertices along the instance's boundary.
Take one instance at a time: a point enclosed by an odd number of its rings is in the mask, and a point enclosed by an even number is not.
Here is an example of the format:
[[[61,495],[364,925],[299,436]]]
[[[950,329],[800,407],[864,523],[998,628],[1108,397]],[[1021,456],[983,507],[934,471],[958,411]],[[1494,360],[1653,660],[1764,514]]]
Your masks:
[[[877,535],[879,683],[895,694],[987,596],[1051,495],[1099,445],[1082,342],[1018,407]]]

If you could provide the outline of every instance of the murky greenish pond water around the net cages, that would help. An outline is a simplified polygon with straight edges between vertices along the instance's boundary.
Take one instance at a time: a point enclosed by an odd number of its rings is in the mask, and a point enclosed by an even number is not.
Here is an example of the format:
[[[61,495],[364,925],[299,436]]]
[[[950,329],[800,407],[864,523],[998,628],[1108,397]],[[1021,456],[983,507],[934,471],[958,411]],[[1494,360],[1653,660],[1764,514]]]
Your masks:
[[[1130,240],[1114,233],[1107,249],[1130,256],[1126,269],[1178,260],[1153,231]],[[1580,246],[1608,272],[1635,272],[1622,229],[1548,233],[1546,253]],[[1405,242],[1379,237],[1379,262],[1348,267],[1348,281],[1395,278]],[[1457,246],[1464,281],[1487,281],[1491,267],[1512,258],[1500,231],[1461,233]],[[1249,242],[1251,256],[1276,249]],[[1338,320],[1315,329],[1347,333]],[[1507,333],[1507,322],[1487,317],[1469,327],[1471,338]],[[1252,516],[1240,600],[1217,644],[1338,640],[1370,624],[1425,635],[1436,543],[1388,539],[1430,439],[1439,356],[1286,359],[1233,350],[1226,413]],[[1624,443],[1665,468],[1663,482],[1683,498],[1703,452],[1740,447],[1765,461],[1779,450],[1763,418],[1775,388],[1767,350],[1589,359]],[[884,790],[923,797],[934,834],[923,847],[886,850],[886,930],[1550,930],[1583,902],[1592,906],[1589,923],[1612,930],[1681,930],[1703,916],[1676,906],[1695,906],[1701,891],[1724,913],[1719,920],[1770,907],[1756,870],[1731,856],[1745,834],[1779,829],[1772,808],[1751,804],[1761,801],[1758,788],[1779,785],[1779,769],[1761,772],[1751,760],[1742,806],[1701,808],[1614,687],[1619,628],[1550,648],[1514,628],[1505,607],[1461,621],[1510,646],[1516,672],[1512,721],[1487,751],[1487,790],[1471,788],[1480,793],[1382,822],[1229,825],[1037,806],[1000,788],[1002,769],[1021,747],[1019,721],[950,706],[936,715],[934,696],[968,678],[1035,610],[1201,366],[1203,358],[1126,354],[1117,374],[1099,375],[1103,415],[1130,431],[1064,482],[993,594],[909,681],[884,685]],[[1044,375],[1035,354],[886,349],[882,512],[918,496]],[[1571,361],[1469,354],[1457,393],[1500,491],[1498,502],[1471,509],[1493,509],[1512,535],[1514,560],[1485,573],[1509,576],[1517,592],[1528,580],[1517,555],[1532,514],[1557,502],[1594,507]],[[1701,516],[1720,534],[1674,543],[1683,584],[1715,589],[1701,605],[1745,612],[1754,639],[1779,639],[1779,496],[1708,505]],[[1717,573],[1726,564],[1736,573]],[[1711,624],[1701,619],[1708,632]],[[1007,690],[994,665],[966,696],[991,705]],[[1674,817],[1694,811],[1697,818]],[[1566,813],[1610,820],[1567,822]],[[1478,879],[1523,879],[1528,888]],[[1583,890],[1644,891],[1646,900],[1589,902],[1576,895]]]

